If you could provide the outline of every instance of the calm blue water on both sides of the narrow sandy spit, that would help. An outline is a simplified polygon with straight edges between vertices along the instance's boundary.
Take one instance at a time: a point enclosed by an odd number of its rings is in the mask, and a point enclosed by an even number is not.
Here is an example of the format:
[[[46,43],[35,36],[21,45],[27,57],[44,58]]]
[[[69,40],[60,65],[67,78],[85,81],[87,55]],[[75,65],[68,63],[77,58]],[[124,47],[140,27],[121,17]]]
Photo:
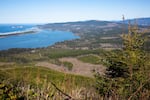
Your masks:
[[[0,33],[23,31],[33,25],[0,25]],[[0,50],[10,48],[39,48],[47,47],[65,40],[77,39],[71,32],[40,30],[37,33],[0,37]]]

